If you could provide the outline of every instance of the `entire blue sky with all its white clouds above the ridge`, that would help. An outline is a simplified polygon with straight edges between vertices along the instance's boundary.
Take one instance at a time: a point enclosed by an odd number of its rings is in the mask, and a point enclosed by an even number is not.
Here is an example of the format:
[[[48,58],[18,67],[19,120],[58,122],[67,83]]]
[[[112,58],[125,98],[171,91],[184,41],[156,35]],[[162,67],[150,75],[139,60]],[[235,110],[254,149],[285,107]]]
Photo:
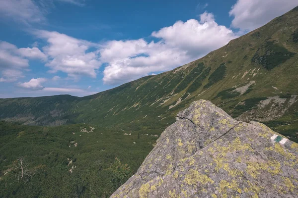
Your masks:
[[[0,98],[86,96],[203,57],[298,0],[0,0]]]

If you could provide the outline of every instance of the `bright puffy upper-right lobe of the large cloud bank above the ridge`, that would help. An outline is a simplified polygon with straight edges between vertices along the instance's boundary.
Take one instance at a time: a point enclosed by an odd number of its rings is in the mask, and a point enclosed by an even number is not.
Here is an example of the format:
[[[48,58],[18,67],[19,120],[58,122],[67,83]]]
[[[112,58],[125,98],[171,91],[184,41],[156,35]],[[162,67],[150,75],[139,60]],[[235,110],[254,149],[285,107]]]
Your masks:
[[[200,18],[200,22],[195,19],[185,23],[177,21],[173,26],[153,32],[152,36],[163,39],[171,47],[186,50],[194,58],[218,49],[236,38],[230,29],[215,22],[212,13],[204,12]]]

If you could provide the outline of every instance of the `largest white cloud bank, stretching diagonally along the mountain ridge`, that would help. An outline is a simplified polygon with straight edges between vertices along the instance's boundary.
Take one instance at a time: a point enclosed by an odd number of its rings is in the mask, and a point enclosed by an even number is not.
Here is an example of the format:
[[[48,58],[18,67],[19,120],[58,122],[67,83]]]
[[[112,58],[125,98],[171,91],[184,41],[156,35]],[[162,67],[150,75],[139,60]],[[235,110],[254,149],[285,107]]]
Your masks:
[[[103,74],[106,84],[121,84],[151,72],[172,69],[198,59],[236,38],[225,26],[215,22],[212,13],[200,15],[201,20],[177,21],[151,36],[158,42],[144,39],[108,41],[99,49],[100,60],[108,63]]]

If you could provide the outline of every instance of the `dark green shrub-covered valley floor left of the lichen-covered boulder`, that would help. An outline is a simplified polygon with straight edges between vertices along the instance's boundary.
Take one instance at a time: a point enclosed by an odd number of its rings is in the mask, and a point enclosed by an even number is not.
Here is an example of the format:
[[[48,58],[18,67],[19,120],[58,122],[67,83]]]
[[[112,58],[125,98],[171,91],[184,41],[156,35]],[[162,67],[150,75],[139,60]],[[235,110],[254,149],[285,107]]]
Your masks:
[[[109,197],[137,171],[157,139],[87,124],[41,127],[3,121],[0,137],[1,198]]]

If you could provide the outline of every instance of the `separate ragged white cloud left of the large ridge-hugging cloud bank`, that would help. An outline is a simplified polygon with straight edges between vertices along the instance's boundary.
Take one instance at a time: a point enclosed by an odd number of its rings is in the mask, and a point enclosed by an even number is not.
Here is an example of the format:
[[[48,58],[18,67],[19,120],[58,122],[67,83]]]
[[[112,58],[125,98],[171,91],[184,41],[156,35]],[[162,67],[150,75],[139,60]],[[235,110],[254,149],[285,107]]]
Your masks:
[[[87,51],[96,47],[95,44],[58,32],[38,30],[34,34],[48,42],[43,51],[49,56],[46,66],[51,68],[51,73],[62,71],[74,78],[80,75],[96,77],[101,62],[96,51]]]

